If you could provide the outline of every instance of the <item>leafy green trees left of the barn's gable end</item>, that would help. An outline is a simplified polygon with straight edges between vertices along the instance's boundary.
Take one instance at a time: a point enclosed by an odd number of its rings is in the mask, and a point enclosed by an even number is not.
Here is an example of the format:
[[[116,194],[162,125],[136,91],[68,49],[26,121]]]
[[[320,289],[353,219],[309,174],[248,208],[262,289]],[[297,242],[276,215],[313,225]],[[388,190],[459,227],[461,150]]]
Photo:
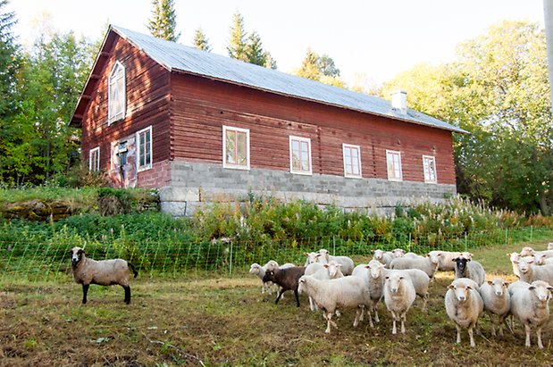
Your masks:
[[[78,159],[79,132],[69,121],[95,54],[71,32],[43,34],[21,54],[0,129],[2,181],[41,184]]]

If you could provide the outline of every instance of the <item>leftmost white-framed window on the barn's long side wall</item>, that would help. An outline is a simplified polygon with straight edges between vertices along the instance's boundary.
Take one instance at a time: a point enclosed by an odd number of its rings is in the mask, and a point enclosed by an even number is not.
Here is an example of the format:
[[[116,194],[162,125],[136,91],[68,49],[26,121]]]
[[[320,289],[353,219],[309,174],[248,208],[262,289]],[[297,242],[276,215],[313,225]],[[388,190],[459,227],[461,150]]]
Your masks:
[[[249,170],[249,129],[222,127],[222,166]]]

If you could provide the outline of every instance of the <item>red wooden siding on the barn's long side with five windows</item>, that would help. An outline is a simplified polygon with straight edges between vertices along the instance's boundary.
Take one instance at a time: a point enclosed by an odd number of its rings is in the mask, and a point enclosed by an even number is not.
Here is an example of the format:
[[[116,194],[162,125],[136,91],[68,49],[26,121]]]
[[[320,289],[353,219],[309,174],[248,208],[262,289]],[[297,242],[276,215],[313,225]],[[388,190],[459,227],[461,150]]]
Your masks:
[[[387,179],[386,149],[401,152],[403,179],[455,184],[448,130],[172,73],[172,158],[222,163],[222,125],[250,130],[250,166],[289,171],[289,136],[311,138],[313,172],[343,176],[342,143],[361,146],[364,178]]]

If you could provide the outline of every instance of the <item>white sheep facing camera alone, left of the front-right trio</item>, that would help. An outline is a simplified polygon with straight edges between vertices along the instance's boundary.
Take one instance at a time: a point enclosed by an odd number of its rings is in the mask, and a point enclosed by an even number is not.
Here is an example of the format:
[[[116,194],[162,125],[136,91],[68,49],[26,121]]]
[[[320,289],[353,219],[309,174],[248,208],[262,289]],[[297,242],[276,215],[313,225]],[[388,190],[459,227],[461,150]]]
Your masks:
[[[397,333],[396,322],[401,321],[401,333],[405,334],[406,314],[416,298],[415,287],[409,277],[398,272],[387,274],[384,279],[384,303],[393,318],[391,333]]]

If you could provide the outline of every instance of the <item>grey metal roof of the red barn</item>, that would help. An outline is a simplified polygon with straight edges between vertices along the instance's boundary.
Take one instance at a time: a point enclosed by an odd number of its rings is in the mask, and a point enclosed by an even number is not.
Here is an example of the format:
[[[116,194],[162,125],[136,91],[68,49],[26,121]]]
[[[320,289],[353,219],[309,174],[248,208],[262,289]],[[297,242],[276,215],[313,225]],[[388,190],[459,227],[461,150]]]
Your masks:
[[[155,62],[162,64],[169,71],[187,72],[283,96],[330,104],[362,113],[377,114],[433,128],[467,133],[464,129],[412,109],[407,109],[406,114],[399,113],[392,108],[389,101],[376,96],[356,93],[312,79],[300,78],[252,63],[231,59],[220,54],[200,51],[194,47],[180,45],[176,42],[155,38],[129,29],[113,25],[110,26],[110,29],[113,29],[121,38],[127,39],[132,45],[144,51]]]

